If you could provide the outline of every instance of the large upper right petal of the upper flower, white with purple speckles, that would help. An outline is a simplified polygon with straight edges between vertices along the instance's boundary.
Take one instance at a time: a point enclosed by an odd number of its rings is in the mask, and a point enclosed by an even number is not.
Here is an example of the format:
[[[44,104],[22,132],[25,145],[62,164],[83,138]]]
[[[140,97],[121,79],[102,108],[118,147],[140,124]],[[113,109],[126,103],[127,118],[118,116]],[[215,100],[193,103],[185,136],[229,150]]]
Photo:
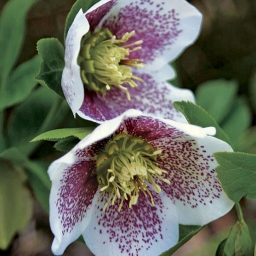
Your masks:
[[[111,30],[120,38],[136,31],[130,42],[143,40],[131,58],[143,59],[149,70],[160,69],[176,59],[199,35],[202,15],[185,0],[110,1],[98,28]],[[96,15],[93,17],[95,19]]]

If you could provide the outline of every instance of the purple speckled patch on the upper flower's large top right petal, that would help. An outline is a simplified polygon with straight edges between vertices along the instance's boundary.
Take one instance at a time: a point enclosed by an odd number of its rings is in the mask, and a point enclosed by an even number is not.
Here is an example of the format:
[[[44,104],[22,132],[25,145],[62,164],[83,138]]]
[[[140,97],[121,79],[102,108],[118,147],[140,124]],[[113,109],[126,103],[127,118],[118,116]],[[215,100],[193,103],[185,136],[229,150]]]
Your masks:
[[[136,34],[130,42],[143,39],[143,49],[131,53],[130,58],[149,63],[159,57],[163,50],[171,50],[171,45],[182,30],[179,28],[179,13],[174,9],[162,12],[164,7],[170,8],[167,2],[159,5],[152,1],[152,6],[148,8],[143,6],[145,3],[146,0],[140,0],[120,8],[118,14],[107,17],[102,26],[118,38],[135,30]]]

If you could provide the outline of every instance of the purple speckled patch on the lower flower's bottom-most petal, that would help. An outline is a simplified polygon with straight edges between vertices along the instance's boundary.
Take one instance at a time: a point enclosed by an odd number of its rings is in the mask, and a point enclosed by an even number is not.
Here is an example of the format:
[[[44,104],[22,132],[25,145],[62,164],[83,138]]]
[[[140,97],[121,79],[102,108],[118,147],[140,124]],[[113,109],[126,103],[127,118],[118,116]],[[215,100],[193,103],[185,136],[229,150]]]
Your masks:
[[[159,212],[167,208],[158,194],[152,191],[152,195],[155,207],[141,193],[136,205],[129,208],[129,203],[125,201],[120,213],[118,212],[119,202],[108,207],[104,212],[101,209],[96,217],[95,232],[98,232],[99,236],[106,237],[106,242],[109,244],[118,243],[120,254],[138,256],[144,246],[149,250],[155,240],[163,239],[162,218]],[[107,196],[103,194],[98,202],[102,203],[102,199],[105,202]]]

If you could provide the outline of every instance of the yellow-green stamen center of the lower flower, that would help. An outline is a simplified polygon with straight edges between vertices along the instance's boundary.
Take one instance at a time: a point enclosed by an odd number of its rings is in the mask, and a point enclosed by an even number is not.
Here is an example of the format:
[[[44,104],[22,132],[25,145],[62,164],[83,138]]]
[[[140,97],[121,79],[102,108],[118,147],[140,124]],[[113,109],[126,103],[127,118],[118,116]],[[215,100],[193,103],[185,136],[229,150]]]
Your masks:
[[[157,156],[161,150],[155,150],[149,143],[140,137],[131,137],[120,133],[109,141],[105,149],[96,157],[96,174],[101,191],[109,192],[109,198],[103,207],[116,199],[120,199],[119,211],[124,200],[129,201],[129,207],[136,204],[139,192],[149,196],[152,205],[154,199],[149,191],[149,185],[153,185],[157,193],[161,188],[155,180],[161,180],[167,184],[170,182],[161,175],[167,173],[156,165]]]

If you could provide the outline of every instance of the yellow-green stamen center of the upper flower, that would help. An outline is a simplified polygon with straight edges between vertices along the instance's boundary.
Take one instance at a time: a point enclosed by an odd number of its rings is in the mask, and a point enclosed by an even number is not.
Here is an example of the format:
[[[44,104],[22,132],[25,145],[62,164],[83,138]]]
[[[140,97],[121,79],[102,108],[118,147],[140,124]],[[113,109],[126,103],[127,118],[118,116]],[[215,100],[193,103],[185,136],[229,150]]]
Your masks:
[[[143,41],[124,44],[135,31],[125,33],[116,39],[108,29],[86,33],[81,40],[81,49],[77,59],[84,86],[91,91],[104,93],[116,86],[125,91],[130,100],[128,89],[123,84],[137,87],[141,78],[132,74],[132,67],[143,67],[143,60],[129,59],[131,52],[140,50]]]

